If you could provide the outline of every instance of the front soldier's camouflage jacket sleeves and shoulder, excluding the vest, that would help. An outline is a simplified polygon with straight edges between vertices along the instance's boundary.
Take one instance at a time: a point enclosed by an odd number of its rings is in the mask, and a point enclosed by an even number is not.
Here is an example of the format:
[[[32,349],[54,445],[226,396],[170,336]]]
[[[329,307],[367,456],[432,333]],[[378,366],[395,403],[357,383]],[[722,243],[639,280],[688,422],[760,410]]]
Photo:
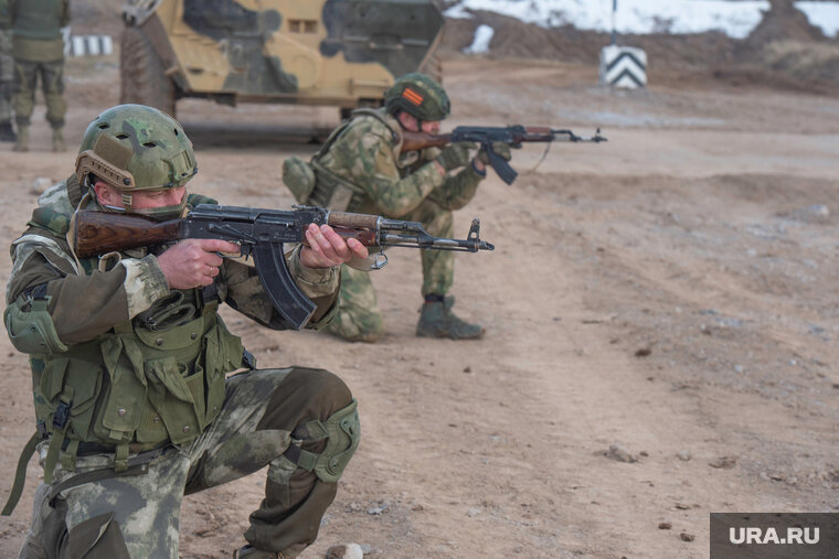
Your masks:
[[[75,176],[41,196],[29,228],[12,243],[13,266],[6,294],[10,304],[25,290],[45,284],[45,294],[51,297],[47,310],[66,345],[108,332],[170,293],[157,257],[145,248],[126,251],[119,265],[106,271],[94,270],[89,261],[82,261],[84,269],[78,269],[66,237],[57,232],[66,232],[68,217],[81,198]],[[194,195],[191,198],[208,201]],[[337,307],[337,268],[317,270],[301,266],[299,247],[286,256],[298,287],[318,305],[309,327],[319,327],[331,319]],[[215,288],[221,301],[261,324],[276,330],[288,326],[274,310],[253,267],[225,259]]]

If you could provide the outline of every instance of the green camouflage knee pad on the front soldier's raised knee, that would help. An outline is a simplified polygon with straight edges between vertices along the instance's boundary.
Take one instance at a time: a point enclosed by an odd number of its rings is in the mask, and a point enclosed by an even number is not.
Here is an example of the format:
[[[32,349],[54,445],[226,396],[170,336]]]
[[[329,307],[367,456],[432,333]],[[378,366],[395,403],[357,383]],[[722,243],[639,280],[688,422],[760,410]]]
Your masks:
[[[326,421],[316,419],[297,427],[291,436],[305,442],[327,441],[320,454],[291,445],[285,456],[304,470],[314,472],[319,480],[337,482],[359,448],[361,423],[358,401],[353,398],[349,406],[336,411]]]

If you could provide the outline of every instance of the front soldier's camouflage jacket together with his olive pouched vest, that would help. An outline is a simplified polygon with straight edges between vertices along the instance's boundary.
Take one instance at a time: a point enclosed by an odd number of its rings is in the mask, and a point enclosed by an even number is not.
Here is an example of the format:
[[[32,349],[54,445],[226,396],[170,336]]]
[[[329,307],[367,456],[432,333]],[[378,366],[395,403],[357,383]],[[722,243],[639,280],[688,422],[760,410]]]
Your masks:
[[[15,347],[30,354],[39,426],[30,444],[50,436],[47,484],[64,444],[62,465],[73,470],[82,443],[116,445],[124,460],[129,451],[187,443],[212,424],[224,406],[226,374],[253,367],[219,315],[220,302],[286,327],[256,271],[240,261],[225,260],[208,288],[170,290],[146,248],[76,259],[67,240],[71,215],[77,206],[96,207],[81,191],[72,176],[42,194],[29,229],[11,247],[4,319]],[[338,269],[302,267],[298,248],[286,257],[317,304],[310,325],[327,322],[337,311]]]

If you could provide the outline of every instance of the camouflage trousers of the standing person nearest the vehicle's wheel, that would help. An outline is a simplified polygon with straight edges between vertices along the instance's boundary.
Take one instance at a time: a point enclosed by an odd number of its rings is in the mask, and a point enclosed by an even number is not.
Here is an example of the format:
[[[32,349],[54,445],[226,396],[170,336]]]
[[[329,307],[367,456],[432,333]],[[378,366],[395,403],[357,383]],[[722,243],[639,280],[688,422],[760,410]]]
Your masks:
[[[14,121],[29,126],[35,108],[39,76],[46,104],[46,120],[52,128],[64,126],[67,104],[64,100],[64,61],[14,61]]]

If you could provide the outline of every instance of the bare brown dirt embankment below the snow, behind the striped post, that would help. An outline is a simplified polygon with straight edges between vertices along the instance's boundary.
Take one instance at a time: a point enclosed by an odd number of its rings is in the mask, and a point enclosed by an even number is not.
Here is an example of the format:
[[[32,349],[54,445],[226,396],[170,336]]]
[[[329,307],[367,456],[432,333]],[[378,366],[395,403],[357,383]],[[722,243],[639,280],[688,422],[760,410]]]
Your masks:
[[[596,64],[608,33],[581,31],[571,25],[545,29],[488,11],[471,11],[471,19],[449,19],[442,43],[444,52],[469,46],[479,25],[495,34],[489,57],[518,57]],[[835,95],[839,82],[839,45],[811,25],[787,0],[774,0],[757,28],[745,40],[710,31],[686,35],[622,34],[618,43],[637,46],[649,57],[651,83],[682,79],[686,73],[702,79],[739,86],[743,82],[782,89]],[[665,75],[661,75],[665,74]]]

